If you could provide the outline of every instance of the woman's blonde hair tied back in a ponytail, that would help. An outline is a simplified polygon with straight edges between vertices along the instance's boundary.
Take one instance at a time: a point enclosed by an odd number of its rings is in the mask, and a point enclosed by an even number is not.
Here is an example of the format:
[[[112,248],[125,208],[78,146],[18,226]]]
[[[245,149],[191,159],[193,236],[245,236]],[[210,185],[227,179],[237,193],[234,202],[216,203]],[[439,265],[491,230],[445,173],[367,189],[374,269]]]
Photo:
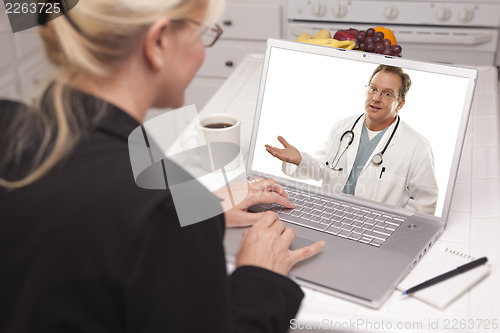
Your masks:
[[[205,10],[200,27],[204,29],[215,23],[223,9],[224,0],[84,0],[42,26],[46,55],[59,71],[47,89],[49,96],[39,98],[29,114],[17,115],[12,123],[3,164],[20,161],[35,150],[31,169],[21,179],[0,178],[0,186],[20,188],[42,178],[104,116],[105,105],[93,110],[92,119],[85,117],[82,108],[71,106],[71,82],[108,77],[159,18],[182,22]],[[50,107],[45,99],[51,101]]]

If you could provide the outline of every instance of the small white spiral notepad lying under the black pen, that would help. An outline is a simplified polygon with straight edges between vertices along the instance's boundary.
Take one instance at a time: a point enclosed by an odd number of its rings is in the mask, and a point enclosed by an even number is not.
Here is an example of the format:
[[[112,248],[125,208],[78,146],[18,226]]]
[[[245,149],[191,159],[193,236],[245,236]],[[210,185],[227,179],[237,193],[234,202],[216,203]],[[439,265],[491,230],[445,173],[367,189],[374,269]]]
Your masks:
[[[397,290],[403,292],[476,259],[446,246],[435,250],[438,251],[429,252],[420,260],[417,266],[399,283]],[[485,278],[489,270],[488,264],[481,265],[411,295],[401,297],[415,297],[436,308],[444,309]]]

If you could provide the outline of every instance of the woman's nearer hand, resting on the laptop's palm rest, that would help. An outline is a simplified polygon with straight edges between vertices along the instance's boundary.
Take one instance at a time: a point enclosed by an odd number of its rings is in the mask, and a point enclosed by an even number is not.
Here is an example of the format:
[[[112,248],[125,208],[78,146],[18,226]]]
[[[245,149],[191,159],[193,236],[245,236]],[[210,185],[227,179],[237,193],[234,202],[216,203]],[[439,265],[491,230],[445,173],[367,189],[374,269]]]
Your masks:
[[[285,228],[285,223],[274,212],[265,212],[250,228],[245,230],[236,255],[236,267],[258,266],[287,275],[299,261],[318,253],[324,246],[319,241],[297,250],[290,250],[295,230]]]

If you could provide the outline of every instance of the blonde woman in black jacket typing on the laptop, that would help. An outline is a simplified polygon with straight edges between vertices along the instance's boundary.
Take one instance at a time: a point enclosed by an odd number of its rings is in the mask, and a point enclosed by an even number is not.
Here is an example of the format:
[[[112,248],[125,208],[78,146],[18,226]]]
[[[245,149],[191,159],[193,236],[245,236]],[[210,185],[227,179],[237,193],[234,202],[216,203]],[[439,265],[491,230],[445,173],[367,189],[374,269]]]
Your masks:
[[[227,212],[254,223],[228,278],[224,216],[181,228],[170,192],[130,166],[128,135],[183,104],[223,6],[85,0],[41,28],[59,74],[37,107],[0,103],[1,332],[287,330],[303,294],[286,274],[324,244],[291,251],[274,213],[246,212],[293,205],[281,188],[260,180]]]

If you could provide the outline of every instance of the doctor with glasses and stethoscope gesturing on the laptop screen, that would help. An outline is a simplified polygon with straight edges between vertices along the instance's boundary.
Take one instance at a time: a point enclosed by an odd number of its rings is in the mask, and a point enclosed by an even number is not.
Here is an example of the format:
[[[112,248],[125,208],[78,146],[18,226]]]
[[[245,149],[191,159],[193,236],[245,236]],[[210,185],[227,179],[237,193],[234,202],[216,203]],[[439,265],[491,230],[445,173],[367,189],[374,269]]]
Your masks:
[[[266,150],[284,162],[285,174],[321,180],[328,192],[434,214],[438,187],[431,147],[398,114],[410,86],[401,68],[380,65],[366,88],[365,112],[336,123],[321,151],[299,152],[283,137],[278,140],[284,148]]]

